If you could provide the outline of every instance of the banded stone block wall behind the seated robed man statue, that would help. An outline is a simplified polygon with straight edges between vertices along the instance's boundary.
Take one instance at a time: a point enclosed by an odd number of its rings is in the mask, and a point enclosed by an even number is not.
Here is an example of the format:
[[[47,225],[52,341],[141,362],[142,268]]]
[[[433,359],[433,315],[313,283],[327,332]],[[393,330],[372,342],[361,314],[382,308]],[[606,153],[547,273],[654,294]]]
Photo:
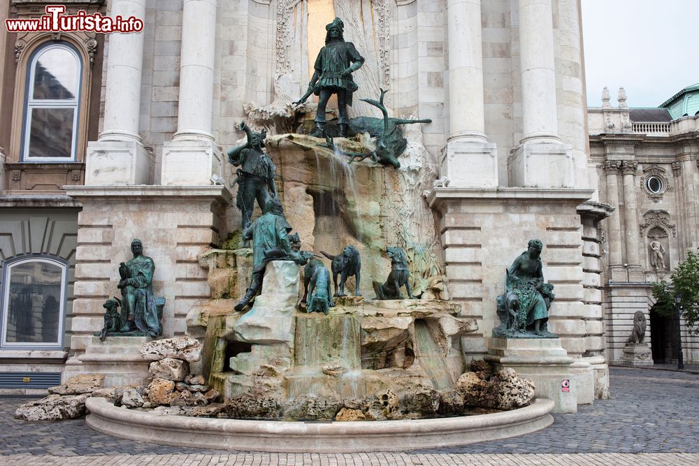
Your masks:
[[[76,356],[102,328],[104,301],[110,296],[120,298],[118,268],[131,259],[134,238],[143,242],[143,254],[155,263],[155,296],[166,298],[164,336],[184,335],[189,308],[210,297],[207,271],[197,256],[219,244],[224,231],[221,206],[212,194],[221,189],[201,188],[199,193],[190,189],[187,195],[159,188],[138,187],[128,193],[122,189],[119,196],[109,190],[71,189],[71,196],[83,205],[78,219],[70,342]]]

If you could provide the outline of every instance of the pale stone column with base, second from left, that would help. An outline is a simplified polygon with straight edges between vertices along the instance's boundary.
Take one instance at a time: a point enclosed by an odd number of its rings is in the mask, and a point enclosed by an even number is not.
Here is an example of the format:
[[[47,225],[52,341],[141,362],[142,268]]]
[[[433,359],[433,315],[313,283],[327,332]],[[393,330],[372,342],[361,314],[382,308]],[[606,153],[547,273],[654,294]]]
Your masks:
[[[216,0],[185,0],[178,131],[163,146],[161,184],[211,184],[212,175],[223,175],[211,135],[215,32]]]

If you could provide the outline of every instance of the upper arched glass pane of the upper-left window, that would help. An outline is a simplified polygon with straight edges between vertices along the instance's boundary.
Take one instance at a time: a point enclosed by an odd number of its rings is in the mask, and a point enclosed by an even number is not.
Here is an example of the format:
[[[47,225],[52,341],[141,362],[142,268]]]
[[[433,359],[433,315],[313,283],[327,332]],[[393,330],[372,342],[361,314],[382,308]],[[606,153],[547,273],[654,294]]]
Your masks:
[[[48,48],[36,57],[34,99],[75,99],[78,63],[66,48]]]

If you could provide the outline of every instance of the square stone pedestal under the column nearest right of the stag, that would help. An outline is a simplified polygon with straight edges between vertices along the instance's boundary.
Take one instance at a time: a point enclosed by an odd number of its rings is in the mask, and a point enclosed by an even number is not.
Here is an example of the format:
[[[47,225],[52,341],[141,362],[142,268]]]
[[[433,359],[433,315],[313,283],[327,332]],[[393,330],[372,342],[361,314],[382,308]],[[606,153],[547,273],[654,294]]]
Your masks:
[[[498,151],[487,142],[449,140],[442,151],[440,176],[449,186],[494,188],[498,186]]]

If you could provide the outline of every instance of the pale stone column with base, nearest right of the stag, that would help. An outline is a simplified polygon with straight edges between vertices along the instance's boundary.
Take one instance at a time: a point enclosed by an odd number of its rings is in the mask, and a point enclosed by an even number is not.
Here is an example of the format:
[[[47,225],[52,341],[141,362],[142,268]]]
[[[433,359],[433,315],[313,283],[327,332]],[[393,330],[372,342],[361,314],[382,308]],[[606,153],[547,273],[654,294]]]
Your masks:
[[[480,0],[448,0],[449,138],[441,176],[452,187],[497,187],[496,145],[485,135]]]

